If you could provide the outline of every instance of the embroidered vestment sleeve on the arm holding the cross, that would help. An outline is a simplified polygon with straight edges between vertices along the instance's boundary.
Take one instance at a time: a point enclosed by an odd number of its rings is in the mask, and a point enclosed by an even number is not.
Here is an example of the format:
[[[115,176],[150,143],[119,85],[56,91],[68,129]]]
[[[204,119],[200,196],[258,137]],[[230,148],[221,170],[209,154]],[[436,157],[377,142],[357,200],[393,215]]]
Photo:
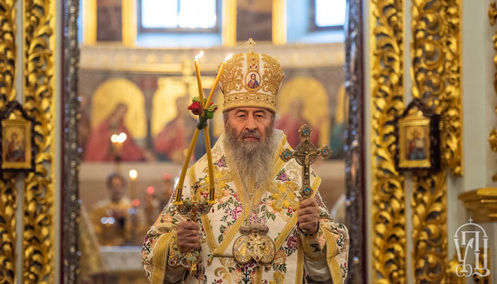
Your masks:
[[[321,209],[320,229],[311,238],[300,236],[304,269],[315,281],[327,281],[331,276],[333,283],[342,284],[347,278],[349,234],[344,225],[333,222],[319,192],[314,198]]]

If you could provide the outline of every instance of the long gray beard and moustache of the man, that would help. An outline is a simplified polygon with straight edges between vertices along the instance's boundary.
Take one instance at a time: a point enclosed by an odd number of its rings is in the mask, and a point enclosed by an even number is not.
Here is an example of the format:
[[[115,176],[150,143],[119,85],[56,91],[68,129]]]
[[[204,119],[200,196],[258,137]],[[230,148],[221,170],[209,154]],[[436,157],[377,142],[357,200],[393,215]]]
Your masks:
[[[271,173],[271,162],[273,159],[276,143],[274,141],[274,127],[271,124],[266,129],[266,138],[258,142],[244,142],[229,124],[224,124],[224,148],[227,151],[228,162],[234,162],[240,173],[240,179],[245,189],[249,186],[249,177],[254,177],[257,185],[261,186],[269,182]],[[255,132],[255,133],[254,133]],[[259,131],[250,132],[255,137],[260,137]]]

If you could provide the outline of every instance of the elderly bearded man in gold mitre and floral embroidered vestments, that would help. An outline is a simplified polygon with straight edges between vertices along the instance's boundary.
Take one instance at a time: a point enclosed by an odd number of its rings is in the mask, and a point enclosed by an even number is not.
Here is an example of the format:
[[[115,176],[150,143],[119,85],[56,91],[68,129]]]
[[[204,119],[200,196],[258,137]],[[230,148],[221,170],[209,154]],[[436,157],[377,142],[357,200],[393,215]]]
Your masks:
[[[347,229],[329,217],[317,192],[321,179],[311,169],[314,193],[304,199],[302,166],[280,160],[290,148],[274,129],[282,79],[280,64],[268,55],[249,50],[227,61],[220,79],[224,134],[212,149],[216,203],[199,223],[171,203],[162,211],[142,249],[151,283],[342,283],[347,277]],[[205,157],[186,180],[183,198],[208,196]],[[175,259],[192,249],[201,250],[202,265],[188,273]]]

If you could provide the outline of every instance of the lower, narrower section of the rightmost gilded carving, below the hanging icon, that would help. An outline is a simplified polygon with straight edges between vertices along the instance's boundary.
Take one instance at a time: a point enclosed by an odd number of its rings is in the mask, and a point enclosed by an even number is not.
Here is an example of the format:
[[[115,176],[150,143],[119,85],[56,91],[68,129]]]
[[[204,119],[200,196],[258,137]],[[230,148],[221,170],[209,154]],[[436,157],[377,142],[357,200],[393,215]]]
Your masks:
[[[447,276],[447,171],[413,178],[411,206],[415,283],[445,283]]]

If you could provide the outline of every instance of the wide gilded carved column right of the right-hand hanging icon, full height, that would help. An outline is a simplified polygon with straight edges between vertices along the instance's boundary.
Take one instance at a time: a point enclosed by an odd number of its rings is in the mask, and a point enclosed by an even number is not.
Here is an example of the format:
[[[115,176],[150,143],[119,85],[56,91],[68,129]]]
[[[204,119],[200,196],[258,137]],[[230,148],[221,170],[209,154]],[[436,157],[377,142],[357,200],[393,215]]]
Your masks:
[[[441,115],[440,173],[413,178],[414,282],[446,283],[447,168],[462,174],[462,102],[460,89],[459,0],[414,0],[413,97]]]

